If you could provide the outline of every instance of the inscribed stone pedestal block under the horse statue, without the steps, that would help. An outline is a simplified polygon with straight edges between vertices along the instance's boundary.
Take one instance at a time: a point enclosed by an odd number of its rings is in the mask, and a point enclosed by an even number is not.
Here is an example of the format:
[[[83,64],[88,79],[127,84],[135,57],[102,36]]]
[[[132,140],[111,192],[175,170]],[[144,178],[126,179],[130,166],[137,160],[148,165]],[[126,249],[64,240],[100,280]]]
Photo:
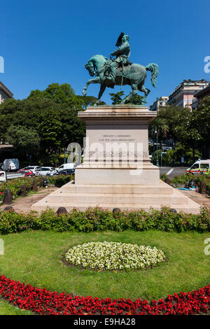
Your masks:
[[[156,113],[143,106],[104,105],[90,106],[78,117],[86,125],[86,150],[76,184],[158,184],[159,169],[148,157],[148,124]]]

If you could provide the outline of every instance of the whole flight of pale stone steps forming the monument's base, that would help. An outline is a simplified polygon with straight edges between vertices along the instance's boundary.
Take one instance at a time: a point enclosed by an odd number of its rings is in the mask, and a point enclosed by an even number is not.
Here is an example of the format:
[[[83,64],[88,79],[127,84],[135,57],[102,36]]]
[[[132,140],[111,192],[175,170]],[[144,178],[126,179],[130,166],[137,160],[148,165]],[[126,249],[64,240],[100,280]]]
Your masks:
[[[80,185],[71,181],[33,204],[31,210],[42,211],[47,207],[55,210],[59,207],[65,207],[67,210],[85,210],[89,207],[149,210],[151,207],[160,209],[162,206],[192,214],[200,211],[199,204],[162,181],[156,186]]]

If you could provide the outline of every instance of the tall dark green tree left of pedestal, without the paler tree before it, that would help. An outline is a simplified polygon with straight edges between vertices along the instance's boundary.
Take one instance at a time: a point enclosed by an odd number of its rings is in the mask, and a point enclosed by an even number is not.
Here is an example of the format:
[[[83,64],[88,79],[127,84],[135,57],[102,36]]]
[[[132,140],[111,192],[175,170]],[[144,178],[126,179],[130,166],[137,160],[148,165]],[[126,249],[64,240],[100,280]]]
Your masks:
[[[59,87],[47,88],[47,92],[36,90],[27,99],[3,102],[0,105],[0,139],[8,140],[11,126],[34,130],[40,140],[39,159],[41,162],[48,159],[48,163],[64,148],[64,134],[69,143],[76,141],[82,145],[85,124],[78,118],[78,111],[84,111],[82,102],[71,87],[64,89],[66,94],[64,90],[59,94],[59,90]],[[20,157],[24,156],[20,153]]]

